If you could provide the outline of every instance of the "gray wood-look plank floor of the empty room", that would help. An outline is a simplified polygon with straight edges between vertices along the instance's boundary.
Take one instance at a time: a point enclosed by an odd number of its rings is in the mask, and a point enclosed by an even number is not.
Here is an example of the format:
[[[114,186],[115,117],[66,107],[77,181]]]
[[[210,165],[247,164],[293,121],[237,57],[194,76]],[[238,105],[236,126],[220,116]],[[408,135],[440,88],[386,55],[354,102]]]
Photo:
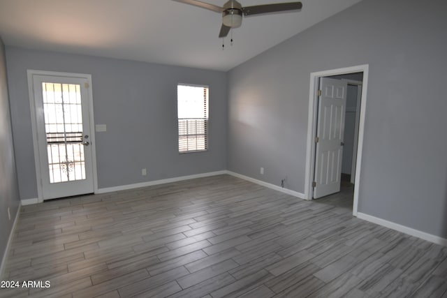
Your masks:
[[[22,207],[2,280],[50,288],[0,297],[447,297],[447,247],[222,175]]]

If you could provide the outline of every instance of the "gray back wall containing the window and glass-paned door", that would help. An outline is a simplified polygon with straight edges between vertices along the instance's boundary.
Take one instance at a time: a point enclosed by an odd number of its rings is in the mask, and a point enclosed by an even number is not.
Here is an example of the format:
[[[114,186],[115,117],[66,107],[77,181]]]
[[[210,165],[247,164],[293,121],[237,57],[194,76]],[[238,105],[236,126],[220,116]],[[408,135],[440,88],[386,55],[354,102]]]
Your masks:
[[[92,75],[98,187],[226,169],[226,73],[6,47],[20,197],[37,198],[27,69]],[[178,154],[177,83],[210,86],[209,150]],[[147,176],[141,169],[147,168]]]

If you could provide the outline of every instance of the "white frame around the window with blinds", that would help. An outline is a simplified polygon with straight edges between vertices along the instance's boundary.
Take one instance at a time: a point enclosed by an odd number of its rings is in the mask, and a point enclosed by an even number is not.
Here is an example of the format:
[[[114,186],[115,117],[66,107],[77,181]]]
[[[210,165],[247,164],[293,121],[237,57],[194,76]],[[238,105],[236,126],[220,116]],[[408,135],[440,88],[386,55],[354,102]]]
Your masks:
[[[206,89],[206,102],[204,99],[203,102],[203,107],[206,110],[206,117],[204,118],[179,118],[179,87],[180,86],[184,86],[184,87],[199,87],[199,88],[203,88]],[[205,97],[204,97],[205,98]],[[205,131],[205,133],[197,133],[197,128],[196,128],[196,133],[193,134],[189,134],[186,133],[186,135],[181,135],[180,134],[180,125],[179,125],[179,121],[180,120],[184,120],[184,119],[203,119],[205,122],[203,124],[204,128],[203,130]],[[196,124],[197,125],[197,124]],[[205,85],[205,84],[189,84],[189,83],[177,83],[177,152],[178,154],[189,154],[189,153],[199,153],[199,152],[206,152],[208,151],[208,149],[210,148],[209,144],[209,131],[210,129],[210,86],[209,85]],[[199,135],[204,135],[205,137],[205,149],[187,149],[188,145],[186,145],[186,150],[185,151],[180,151],[180,137],[181,136],[186,136],[188,137],[189,135],[191,136],[195,136],[198,137]]]

